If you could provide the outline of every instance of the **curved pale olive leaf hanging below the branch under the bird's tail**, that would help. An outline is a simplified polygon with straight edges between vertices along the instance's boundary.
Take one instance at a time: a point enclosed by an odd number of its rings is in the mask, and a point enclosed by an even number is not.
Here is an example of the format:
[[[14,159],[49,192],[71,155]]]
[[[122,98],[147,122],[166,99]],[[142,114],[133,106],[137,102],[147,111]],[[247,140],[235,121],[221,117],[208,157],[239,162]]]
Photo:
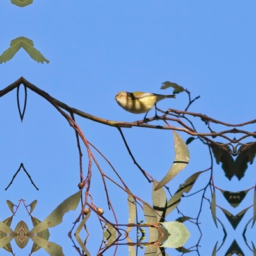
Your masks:
[[[166,185],[170,180],[173,179],[181,170],[183,170],[187,164],[189,163],[189,151],[188,146],[182,140],[182,138],[177,134],[177,132],[173,131],[174,136],[174,150],[175,150],[175,159],[173,161],[172,167],[166,176],[157,184],[155,190],[162,188]]]

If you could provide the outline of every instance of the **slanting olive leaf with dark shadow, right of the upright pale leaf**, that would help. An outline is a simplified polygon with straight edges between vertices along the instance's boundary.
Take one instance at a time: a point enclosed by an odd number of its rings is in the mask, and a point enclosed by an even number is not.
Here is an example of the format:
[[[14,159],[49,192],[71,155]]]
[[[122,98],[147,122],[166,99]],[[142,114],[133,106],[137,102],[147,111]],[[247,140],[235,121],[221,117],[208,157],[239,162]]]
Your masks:
[[[203,171],[204,172],[204,171]],[[167,209],[166,209],[166,216],[177,207],[177,205],[180,203],[180,198],[182,196],[182,193],[188,193],[190,189],[195,184],[196,179],[198,176],[203,172],[196,172],[193,175],[191,175],[183,184],[179,186],[179,189],[176,191],[176,193],[168,200],[167,202]]]

